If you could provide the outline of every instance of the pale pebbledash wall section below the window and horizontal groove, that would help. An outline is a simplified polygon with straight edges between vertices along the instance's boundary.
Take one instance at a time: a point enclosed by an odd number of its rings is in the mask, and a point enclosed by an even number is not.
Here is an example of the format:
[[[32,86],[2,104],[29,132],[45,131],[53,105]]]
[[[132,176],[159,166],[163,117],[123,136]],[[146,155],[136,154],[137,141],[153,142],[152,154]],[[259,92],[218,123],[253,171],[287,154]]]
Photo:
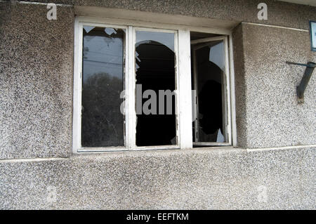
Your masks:
[[[315,165],[315,148],[1,162],[0,209],[316,209]]]

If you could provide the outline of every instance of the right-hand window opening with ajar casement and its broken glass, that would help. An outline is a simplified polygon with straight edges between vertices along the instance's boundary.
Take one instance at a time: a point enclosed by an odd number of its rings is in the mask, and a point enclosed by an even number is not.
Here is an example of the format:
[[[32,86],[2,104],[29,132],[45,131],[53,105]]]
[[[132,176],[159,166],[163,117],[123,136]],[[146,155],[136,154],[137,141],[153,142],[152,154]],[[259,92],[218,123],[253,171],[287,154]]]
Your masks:
[[[191,34],[192,39],[208,38]],[[191,45],[193,145],[226,143],[227,119],[225,112],[225,48],[224,42],[202,41]],[[204,144],[199,144],[204,143]],[[211,145],[211,144],[210,144]]]

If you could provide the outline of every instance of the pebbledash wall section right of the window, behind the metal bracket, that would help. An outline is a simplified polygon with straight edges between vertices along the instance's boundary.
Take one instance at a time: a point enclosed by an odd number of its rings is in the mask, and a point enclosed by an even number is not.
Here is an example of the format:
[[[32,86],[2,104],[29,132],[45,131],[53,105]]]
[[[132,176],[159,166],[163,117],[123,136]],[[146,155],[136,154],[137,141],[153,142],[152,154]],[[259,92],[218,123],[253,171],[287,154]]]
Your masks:
[[[239,146],[316,144],[316,77],[298,104],[296,86],[305,67],[286,64],[316,61],[309,33],[242,24],[234,35]]]

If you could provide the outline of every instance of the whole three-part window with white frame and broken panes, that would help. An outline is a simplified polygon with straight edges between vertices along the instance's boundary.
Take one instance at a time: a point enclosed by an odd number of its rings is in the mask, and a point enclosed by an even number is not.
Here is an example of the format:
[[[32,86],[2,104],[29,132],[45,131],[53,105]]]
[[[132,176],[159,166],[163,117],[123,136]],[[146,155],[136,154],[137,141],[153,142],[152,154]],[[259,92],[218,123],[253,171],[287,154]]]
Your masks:
[[[73,152],[232,145],[228,36],[75,22]]]

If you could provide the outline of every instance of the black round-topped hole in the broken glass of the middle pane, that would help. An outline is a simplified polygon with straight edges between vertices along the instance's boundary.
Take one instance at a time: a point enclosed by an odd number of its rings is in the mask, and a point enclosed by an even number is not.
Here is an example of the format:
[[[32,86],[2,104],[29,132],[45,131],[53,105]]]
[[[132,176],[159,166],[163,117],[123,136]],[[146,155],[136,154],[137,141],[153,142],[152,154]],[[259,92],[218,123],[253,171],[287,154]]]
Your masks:
[[[156,41],[138,43],[136,53],[140,61],[136,72],[136,84],[142,84],[142,91],[151,89],[157,94],[159,90],[175,90],[175,54],[171,49]],[[143,95],[143,93],[142,93]],[[143,103],[147,99],[143,99]],[[166,111],[166,100],[165,111]],[[143,105],[142,103],[142,105]],[[138,114],[136,126],[136,145],[173,145],[176,142],[175,97],[173,96],[172,114]]]

